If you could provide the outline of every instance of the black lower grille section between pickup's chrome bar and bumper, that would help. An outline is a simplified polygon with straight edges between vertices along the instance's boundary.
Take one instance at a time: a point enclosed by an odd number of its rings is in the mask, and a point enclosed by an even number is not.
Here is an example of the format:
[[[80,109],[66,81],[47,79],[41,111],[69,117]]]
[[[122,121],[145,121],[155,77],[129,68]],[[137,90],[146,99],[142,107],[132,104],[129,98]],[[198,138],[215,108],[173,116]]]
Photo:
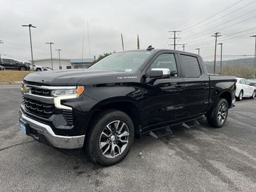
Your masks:
[[[55,105],[23,97],[25,109],[39,117],[49,118],[55,113]]]

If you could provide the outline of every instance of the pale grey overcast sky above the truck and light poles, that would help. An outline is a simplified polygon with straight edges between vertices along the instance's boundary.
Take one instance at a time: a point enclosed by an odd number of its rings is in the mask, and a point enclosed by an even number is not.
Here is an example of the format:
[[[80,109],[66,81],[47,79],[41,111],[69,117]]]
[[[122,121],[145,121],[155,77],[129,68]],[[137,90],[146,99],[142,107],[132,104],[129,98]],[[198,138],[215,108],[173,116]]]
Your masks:
[[[29,23],[37,27],[32,28],[34,59],[50,58],[46,41],[55,43],[54,58],[56,49],[63,50],[62,58],[82,58],[83,35],[84,58],[89,58],[87,21],[91,57],[122,51],[121,32],[125,50],[136,49],[137,34],[141,49],[173,49],[168,30],[181,30],[177,44],[187,44],[185,51],[193,53],[200,48],[206,60],[214,54],[214,32],[222,34],[224,55],[254,53],[249,36],[256,34],[255,0],[0,0],[0,5],[0,53],[18,60],[31,58],[28,28],[21,27]]]

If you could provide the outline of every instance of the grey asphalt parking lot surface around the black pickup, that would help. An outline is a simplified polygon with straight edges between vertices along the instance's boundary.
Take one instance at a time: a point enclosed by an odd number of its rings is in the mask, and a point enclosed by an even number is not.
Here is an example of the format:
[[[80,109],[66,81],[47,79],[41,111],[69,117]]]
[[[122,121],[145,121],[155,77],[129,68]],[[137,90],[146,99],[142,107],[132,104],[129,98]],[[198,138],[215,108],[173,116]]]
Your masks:
[[[0,191],[255,191],[256,99],[236,102],[224,127],[136,139],[101,167],[33,141],[18,127],[20,85],[0,86]]]

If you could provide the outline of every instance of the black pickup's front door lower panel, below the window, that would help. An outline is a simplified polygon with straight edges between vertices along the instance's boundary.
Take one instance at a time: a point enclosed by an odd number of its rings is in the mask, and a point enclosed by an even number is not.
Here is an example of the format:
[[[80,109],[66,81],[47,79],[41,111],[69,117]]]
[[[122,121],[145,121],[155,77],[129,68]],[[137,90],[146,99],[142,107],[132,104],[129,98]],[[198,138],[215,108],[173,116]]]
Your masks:
[[[186,117],[183,78],[157,79],[153,84],[147,84],[146,90],[140,104],[144,127]]]

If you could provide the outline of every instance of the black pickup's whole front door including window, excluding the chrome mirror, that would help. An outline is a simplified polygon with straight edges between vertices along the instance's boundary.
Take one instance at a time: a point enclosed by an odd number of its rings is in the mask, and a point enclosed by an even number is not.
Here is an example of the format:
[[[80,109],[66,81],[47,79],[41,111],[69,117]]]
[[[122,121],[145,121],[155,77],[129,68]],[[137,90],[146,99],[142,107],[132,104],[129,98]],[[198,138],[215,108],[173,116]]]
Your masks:
[[[148,75],[152,68],[168,68],[169,78],[151,79]],[[140,106],[143,110],[143,127],[155,124],[168,124],[172,120],[186,117],[184,105],[184,77],[180,76],[177,56],[171,51],[161,51],[143,71],[146,73],[144,84],[146,93]]]

